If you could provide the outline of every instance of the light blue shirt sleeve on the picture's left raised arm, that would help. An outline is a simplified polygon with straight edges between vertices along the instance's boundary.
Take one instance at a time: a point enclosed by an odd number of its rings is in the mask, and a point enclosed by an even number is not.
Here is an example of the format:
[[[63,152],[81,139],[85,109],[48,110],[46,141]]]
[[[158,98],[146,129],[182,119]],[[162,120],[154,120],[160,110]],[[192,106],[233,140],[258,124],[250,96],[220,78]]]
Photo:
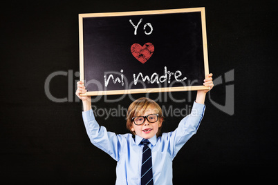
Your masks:
[[[104,126],[100,126],[95,120],[93,110],[82,112],[82,117],[91,143],[118,161],[120,150],[118,135],[108,132]]]

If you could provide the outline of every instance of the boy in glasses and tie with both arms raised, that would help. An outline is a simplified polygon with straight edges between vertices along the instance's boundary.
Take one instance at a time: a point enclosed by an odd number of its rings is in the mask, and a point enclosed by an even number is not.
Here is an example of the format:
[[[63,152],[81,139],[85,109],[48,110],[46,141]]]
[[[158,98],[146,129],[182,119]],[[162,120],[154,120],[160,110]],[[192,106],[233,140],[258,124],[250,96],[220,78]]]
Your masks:
[[[210,89],[214,86],[212,74],[207,75],[204,85]],[[116,135],[98,125],[91,109],[91,97],[80,97],[80,93],[86,92],[81,81],[77,82],[77,87],[76,95],[82,99],[84,125],[92,144],[118,162],[115,184],[172,184],[172,161],[196,133],[209,90],[198,90],[192,113],[180,121],[176,130],[158,137],[163,114],[155,101],[148,98],[133,101],[127,111],[127,128],[132,135]]]

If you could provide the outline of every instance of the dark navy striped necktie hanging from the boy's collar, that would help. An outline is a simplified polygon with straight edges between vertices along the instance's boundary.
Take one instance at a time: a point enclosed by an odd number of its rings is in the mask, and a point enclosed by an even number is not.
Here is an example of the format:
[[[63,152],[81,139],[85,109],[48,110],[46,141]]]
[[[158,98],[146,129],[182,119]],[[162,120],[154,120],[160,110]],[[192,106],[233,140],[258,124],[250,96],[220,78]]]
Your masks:
[[[151,163],[151,148],[148,146],[149,140],[142,139],[141,144],[144,145],[142,150],[141,185],[152,185],[154,181]]]

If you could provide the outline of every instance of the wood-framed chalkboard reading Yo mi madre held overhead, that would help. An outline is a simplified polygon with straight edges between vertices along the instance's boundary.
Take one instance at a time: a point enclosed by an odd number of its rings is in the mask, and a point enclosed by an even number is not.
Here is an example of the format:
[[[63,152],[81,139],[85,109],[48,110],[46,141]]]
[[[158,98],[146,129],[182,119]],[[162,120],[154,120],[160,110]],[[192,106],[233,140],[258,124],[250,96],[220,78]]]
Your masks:
[[[205,8],[79,14],[83,95],[201,90]]]

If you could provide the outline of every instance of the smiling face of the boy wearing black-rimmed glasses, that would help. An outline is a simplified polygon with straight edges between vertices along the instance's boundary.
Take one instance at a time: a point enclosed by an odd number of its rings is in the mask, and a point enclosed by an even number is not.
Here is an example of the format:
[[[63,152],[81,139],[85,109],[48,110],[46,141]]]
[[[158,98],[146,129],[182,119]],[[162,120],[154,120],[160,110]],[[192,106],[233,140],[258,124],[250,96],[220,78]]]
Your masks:
[[[158,113],[158,110],[153,107],[147,108],[145,113],[138,113],[137,116],[147,116],[151,114]],[[161,126],[163,119],[158,117],[158,121],[154,123],[149,123],[147,119],[145,119],[145,122],[142,125],[136,125],[133,123],[131,130],[136,133],[136,135],[144,138],[144,139],[150,139],[151,137],[154,137],[156,133],[158,133],[158,128]]]

